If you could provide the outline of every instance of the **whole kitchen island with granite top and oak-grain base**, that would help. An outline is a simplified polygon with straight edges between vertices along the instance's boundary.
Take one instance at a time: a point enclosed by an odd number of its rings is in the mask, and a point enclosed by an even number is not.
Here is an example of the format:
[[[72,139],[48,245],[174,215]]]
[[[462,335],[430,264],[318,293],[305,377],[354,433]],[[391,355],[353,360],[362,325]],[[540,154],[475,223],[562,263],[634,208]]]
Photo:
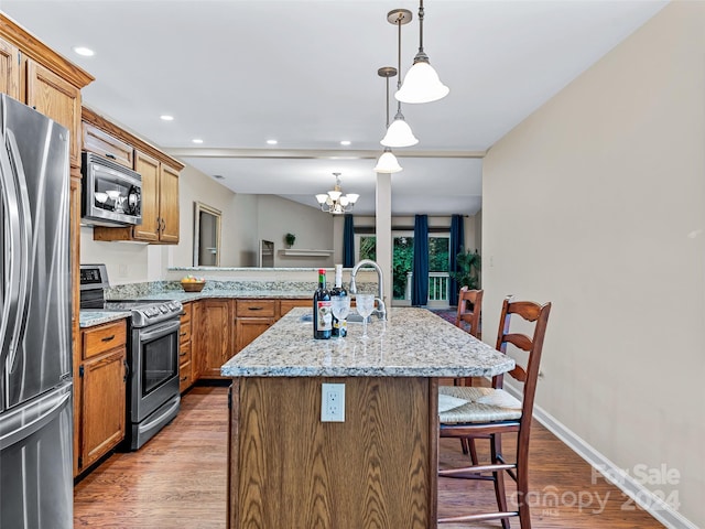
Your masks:
[[[513,360],[424,309],[313,339],[294,309],[232,357],[228,527],[436,527],[437,379]],[[344,384],[344,422],[322,422],[322,385]]]

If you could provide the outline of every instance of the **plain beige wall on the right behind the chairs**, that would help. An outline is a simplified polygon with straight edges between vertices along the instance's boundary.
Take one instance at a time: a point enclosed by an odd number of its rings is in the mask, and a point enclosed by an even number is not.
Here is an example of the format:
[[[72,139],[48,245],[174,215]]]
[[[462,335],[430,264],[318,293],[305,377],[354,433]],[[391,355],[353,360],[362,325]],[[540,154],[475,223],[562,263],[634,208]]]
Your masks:
[[[484,334],[552,301],[538,406],[705,527],[705,2],[674,2],[484,164]]]

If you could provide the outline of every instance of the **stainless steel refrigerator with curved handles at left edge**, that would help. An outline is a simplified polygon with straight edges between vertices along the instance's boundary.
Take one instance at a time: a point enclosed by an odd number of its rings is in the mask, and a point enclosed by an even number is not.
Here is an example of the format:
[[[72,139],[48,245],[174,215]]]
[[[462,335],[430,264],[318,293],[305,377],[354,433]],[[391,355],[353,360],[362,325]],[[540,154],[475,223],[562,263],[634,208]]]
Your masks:
[[[0,528],[73,527],[68,131],[0,95]]]

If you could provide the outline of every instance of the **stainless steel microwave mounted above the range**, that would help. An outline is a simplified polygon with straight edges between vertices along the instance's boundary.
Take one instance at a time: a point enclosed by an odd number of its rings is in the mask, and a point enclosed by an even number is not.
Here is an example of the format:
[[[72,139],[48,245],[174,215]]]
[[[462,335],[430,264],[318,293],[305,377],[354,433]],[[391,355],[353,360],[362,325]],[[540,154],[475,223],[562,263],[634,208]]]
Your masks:
[[[84,152],[82,162],[82,223],[97,226],[142,224],[142,176],[91,152]]]

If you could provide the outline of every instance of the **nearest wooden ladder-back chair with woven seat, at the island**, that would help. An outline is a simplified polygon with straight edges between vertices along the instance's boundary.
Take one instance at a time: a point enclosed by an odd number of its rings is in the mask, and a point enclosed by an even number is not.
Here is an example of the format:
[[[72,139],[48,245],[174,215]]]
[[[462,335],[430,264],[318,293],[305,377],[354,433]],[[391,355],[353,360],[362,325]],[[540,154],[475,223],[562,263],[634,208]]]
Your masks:
[[[440,518],[438,523],[457,523],[464,521],[479,521],[501,519],[502,527],[508,529],[509,518],[518,516],[522,529],[531,529],[529,504],[524,498],[529,494],[528,460],[529,433],[533,413],[533,400],[539,378],[539,364],[543,348],[543,337],[546,331],[551,303],[540,305],[530,301],[510,301],[502,304],[497,349],[507,353],[507,344],[512,344],[528,353],[527,367],[517,364],[509,371],[512,378],[523,382],[523,401],[519,402],[502,389],[503,376],[492,378],[491,388],[471,386],[441,386],[440,395],[447,395],[467,401],[458,408],[440,413],[441,438],[486,439],[490,440],[490,463],[477,464],[460,468],[442,468],[441,477],[466,479],[486,479],[495,484],[498,511]],[[528,322],[533,322],[533,336],[510,333],[511,315],[516,314]],[[508,463],[501,451],[501,436],[517,433],[517,453],[513,463]],[[517,482],[517,499],[519,510],[507,509],[505,493],[505,471]]]

